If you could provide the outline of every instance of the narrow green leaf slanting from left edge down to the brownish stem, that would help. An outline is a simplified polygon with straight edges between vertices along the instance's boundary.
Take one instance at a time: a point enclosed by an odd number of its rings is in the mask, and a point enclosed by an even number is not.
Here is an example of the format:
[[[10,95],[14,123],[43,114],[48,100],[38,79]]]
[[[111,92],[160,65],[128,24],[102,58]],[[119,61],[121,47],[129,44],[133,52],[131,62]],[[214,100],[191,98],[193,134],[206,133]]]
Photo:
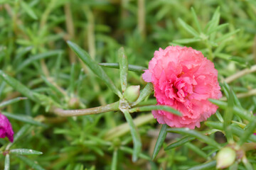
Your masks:
[[[6,81],[7,84],[12,86],[16,91],[23,94],[23,96],[26,96],[27,98],[31,99],[32,101],[38,101],[38,99],[34,96],[34,92],[28,89],[26,86],[21,84],[18,80],[14,79],[13,77],[10,77],[8,74],[5,74],[0,69],[0,77]]]

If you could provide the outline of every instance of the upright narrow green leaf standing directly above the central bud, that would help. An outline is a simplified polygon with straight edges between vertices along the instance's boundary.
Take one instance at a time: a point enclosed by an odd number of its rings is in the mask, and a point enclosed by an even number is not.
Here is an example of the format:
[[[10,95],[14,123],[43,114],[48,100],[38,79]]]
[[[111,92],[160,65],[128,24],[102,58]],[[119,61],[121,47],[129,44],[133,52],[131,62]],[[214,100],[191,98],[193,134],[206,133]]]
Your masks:
[[[127,56],[124,54],[124,47],[120,47],[118,50],[119,58],[119,71],[120,71],[120,80],[122,92],[124,93],[127,88],[127,77],[128,77],[128,60]]]

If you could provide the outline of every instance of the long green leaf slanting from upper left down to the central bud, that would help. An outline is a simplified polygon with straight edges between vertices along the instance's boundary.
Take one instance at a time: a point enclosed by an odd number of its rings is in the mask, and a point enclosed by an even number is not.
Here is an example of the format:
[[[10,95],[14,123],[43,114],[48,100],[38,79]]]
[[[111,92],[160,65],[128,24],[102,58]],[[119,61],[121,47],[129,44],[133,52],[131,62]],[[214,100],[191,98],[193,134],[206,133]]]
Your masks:
[[[117,94],[119,98],[122,98],[121,92],[117,89],[116,86],[114,86],[114,83],[110,77],[107,76],[102,67],[100,67],[94,60],[92,60],[90,55],[85,52],[85,50],[82,50],[82,48],[71,41],[68,41],[68,45],[75,52],[75,54],[80,57],[82,62],[87,64],[87,67],[90,67],[92,72],[94,72],[98,77],[100,77],[100,79],[102,79],[103,82],[105,82],[105,84],[107,84],[107,86],[114,92],[114,94]]]

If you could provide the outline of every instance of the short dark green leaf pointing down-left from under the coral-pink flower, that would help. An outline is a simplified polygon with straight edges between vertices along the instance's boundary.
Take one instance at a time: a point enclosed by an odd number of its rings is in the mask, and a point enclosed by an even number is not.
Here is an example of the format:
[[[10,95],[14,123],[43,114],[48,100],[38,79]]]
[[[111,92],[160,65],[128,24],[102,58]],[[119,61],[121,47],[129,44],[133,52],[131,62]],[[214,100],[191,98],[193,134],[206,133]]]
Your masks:
[[[154,147],[152,159],[156,158],[156,155],[159,153],[159,150],[161,149],[162,145],[164,144],[164,140],[167,135],[167,131],[166,131],[167,127],[168,126],[166,124],[162,125],[162,127],[161,127],[161,130],[159,132],[159,137],[157,137],[156,145]]]

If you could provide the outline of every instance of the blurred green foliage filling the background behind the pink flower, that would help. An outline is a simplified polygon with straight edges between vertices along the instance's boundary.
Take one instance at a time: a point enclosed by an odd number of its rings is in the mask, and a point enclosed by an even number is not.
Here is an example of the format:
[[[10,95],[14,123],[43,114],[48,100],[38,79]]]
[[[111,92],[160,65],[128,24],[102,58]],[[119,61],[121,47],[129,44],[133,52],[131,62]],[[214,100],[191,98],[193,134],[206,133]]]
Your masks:
[[[129,64],[144,67],[159,47],[190,46],[215,62],[223,81],[255,64],[255,26],[254,0],[0,0],[0,67],[29,89],[49,96],[46,105],[55,102],[62,108],[90,108],[118,98],[78,60],[67,40],[80,45],[96,62],[118,62],[117,50],[124,47]],[[105,68],[105,72],[120,89],[118,70]],[[145,85],[141,74],[129,72],[128,78],[129,85]],[[242,106],[254,112],[255,80],[255,74],[247,74],[232,83],[233,91],[242,97]],[[0,80],[1,101],[20,96]],[[123,125],[121,129],[126,125],[121,113],[60,118],[46,109],[31,100],[1,108],[9,114],[14,132],[24,131],[12,147],[43,152],[11,155],[11,169],[188,169],[207,160],[196,152],[203,147],[196,141],[160,150],[151,161],[160,127],[149,118],[138,125],[143,154],[132,162],[129,129],[114,135],[119,125]],[[132,117],[146,119],[148,114],[134,113]],[[176,137],[167,135],[166,143]],[[1,150],[8,145],[4,139],[0,143]],[[4,155],[0,159],[4,169]]]

